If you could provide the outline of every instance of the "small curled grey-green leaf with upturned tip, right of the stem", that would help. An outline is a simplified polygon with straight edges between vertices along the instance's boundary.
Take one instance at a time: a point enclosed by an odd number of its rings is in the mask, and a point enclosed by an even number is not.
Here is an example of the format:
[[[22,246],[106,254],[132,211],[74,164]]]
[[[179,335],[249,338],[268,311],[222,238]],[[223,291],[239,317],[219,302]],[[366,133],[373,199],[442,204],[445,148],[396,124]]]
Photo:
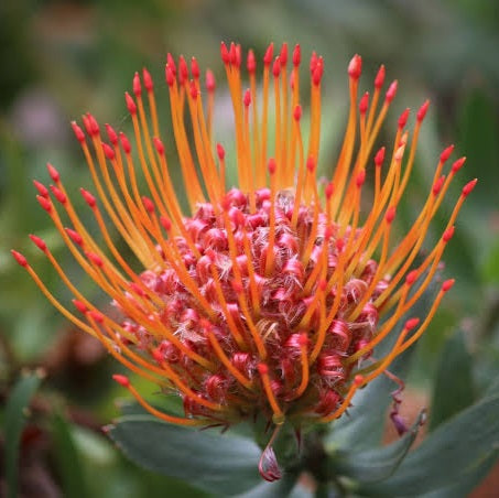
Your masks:
[[[337,457],[333,455],[334,474],[350,477],[358,483],[377,483],[387,479],[408,454],[425,416],[425,412],[422,411],[412,427],[388,446],[360,453],[338,452]]]

